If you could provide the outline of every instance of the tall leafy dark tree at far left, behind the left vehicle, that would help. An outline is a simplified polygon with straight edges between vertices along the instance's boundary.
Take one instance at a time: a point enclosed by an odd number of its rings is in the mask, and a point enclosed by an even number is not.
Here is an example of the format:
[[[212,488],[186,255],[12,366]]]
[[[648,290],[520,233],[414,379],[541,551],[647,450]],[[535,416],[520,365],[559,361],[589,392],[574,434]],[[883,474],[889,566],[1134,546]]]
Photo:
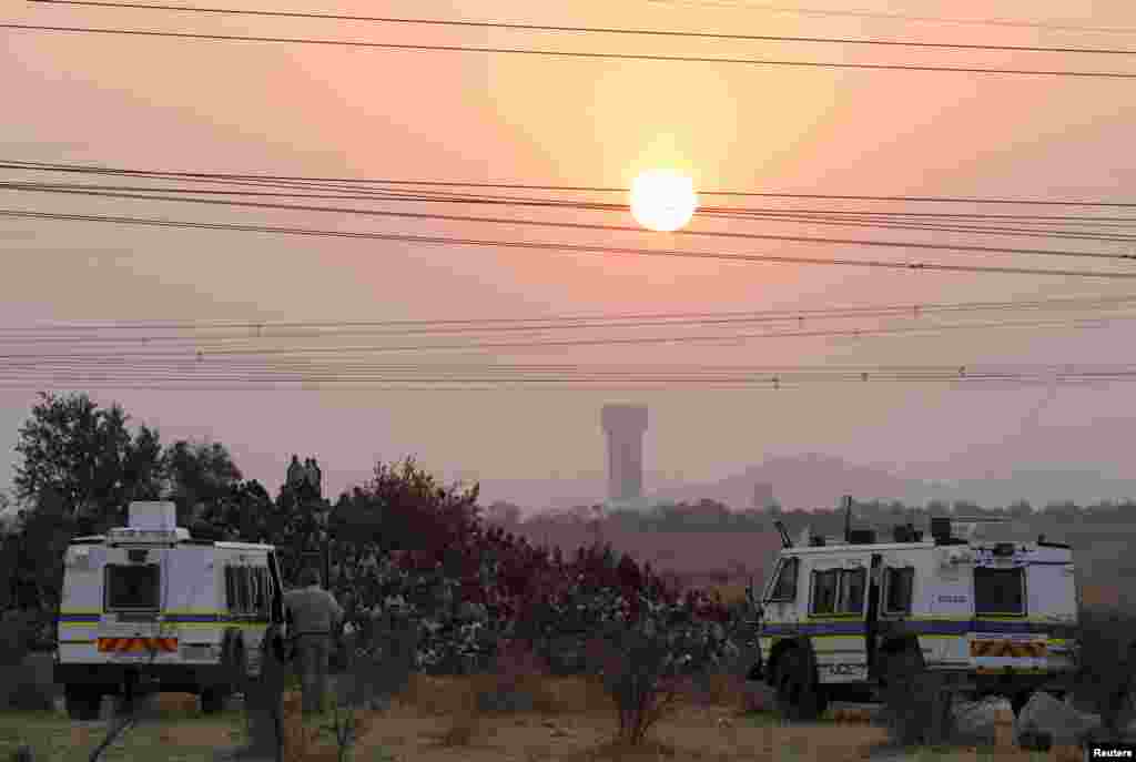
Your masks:
[[[100,409],[86,394],[40,393],[40,403],[19,429],[17,496],[37,499],[43,489],[61,501],[62,513],[101,530],[122,518],[132,500],[160,492],[161,445],[156,429],[127,429],[118,404]]]

